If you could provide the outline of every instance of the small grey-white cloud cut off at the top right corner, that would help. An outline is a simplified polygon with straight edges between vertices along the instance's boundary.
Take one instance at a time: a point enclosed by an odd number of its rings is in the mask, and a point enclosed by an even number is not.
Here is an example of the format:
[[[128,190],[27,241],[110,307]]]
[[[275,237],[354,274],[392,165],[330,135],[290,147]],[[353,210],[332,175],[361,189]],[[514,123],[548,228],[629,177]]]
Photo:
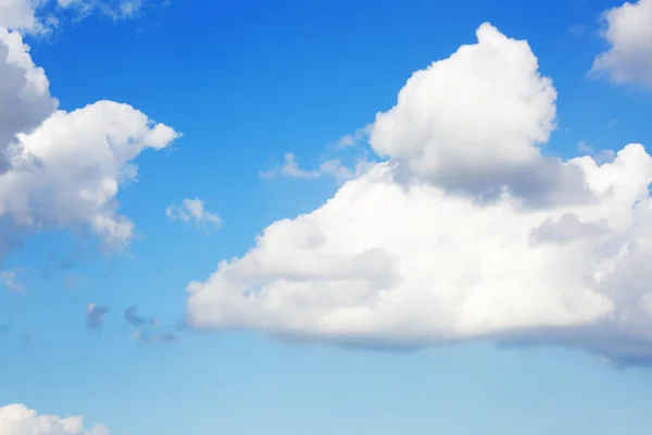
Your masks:
[[[652,0],[624,3],[604,12],[603,37],[610,49],[593,62],[593,71],[616,83],[652,87]]]

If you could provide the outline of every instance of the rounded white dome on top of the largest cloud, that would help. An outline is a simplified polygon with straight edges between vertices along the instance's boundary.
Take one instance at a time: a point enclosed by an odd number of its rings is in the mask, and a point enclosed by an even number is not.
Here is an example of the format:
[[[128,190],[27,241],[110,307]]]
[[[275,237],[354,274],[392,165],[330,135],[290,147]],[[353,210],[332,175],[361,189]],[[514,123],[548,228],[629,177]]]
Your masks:
[[[412,75],[397,104],[376,115],[372,148],[410,176],[474,195],[580,195],[577,171],[539,149],[555,127],[552,80],[526,41],[488,24],[477,37]]]

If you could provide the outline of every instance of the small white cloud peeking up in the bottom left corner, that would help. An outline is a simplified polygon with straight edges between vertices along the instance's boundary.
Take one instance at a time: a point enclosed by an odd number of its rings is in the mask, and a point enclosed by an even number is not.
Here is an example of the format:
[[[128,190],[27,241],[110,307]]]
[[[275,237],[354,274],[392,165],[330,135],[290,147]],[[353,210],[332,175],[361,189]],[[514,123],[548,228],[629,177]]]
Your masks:
[[[0,407],[0,433],[2,435],[109,435],[109,430],[95,425],[84,428],[80,417],[60,418],[38,414],[24,405]]]

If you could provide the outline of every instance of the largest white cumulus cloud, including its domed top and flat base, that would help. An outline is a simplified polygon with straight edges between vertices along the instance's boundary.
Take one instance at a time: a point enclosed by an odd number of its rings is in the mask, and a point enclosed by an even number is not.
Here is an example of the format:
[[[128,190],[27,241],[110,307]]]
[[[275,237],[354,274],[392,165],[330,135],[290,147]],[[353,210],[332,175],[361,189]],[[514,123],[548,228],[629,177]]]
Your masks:
[[[652,361],[652,158],[540,148],[556,92],[489,24],[369,127],[371,165],[187,287],[198,328],[421,347],[491,338]]]

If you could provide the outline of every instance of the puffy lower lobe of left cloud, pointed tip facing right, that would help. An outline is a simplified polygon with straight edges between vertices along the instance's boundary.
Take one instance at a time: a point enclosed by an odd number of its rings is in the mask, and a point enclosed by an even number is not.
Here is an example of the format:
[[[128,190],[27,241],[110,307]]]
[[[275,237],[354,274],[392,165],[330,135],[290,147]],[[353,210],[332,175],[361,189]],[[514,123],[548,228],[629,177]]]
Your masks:
[[[58,111],[36,130],[17,135],[13,167],[0,175],[0,211],[23,227],[83,224],[111,246],[123,246],[134,225],[117,213],[120,186],[135,181],[134,159],[176,137],[127,104],[99,101]]]

